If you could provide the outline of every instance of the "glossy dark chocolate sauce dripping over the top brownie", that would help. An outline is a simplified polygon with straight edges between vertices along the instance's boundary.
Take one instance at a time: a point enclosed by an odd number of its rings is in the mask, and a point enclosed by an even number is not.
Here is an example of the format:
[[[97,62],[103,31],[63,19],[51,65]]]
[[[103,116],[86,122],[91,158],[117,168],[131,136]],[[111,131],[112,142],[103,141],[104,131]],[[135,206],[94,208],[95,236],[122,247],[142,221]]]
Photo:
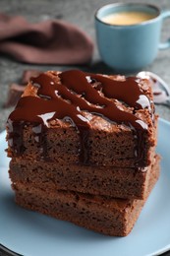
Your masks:
[[[79,70],[65,71],[59,74],[60,81],[47,74],[40,74],[31,79],[31,84],[37,87],[37,96],[22,97],[16,109],[8,119],[9,139],[16,155],[25,151],[21,130],[30,123],[38,143],[43,142],[42,157],[45,149],[45,133],[50,120],[60,119],[74,125],[81,138],[80,161],[88,163],[87,137],[90,121],[84,111],[102,116],[109,122],[125,124],[134,130],[138,138],[138,161],[142,159],[143,134],[147,124],[135,115],[137,109],[147,107],[150,102],[142,93],[138,78],[127,78],[125,81],[115,81],[106,76],[84,73]],[[114,98],[133,107],[134,113],[120,109]],[[22,128],[21,128],[22,127]],[[142,165],[142,162],[139,163]]]

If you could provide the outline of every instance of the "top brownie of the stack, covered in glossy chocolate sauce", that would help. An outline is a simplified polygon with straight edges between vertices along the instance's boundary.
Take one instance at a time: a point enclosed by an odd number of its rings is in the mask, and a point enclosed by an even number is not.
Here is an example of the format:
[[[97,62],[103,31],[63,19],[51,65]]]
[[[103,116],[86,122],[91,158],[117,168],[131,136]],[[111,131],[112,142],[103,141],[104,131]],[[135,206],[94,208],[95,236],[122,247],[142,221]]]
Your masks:
[[[7,130],[9,157],[144,167],[156,144],[151,87],[137,77],[46,72],[30,80]]]

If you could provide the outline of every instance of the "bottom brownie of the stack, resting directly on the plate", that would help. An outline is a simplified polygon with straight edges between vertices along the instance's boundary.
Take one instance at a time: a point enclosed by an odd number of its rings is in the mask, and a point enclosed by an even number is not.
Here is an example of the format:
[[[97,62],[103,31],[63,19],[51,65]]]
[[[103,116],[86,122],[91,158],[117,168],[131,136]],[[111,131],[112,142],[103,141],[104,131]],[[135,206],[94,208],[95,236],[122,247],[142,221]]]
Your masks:
[[[69,221],[97,232],[125,236],[133,228],[152,187],[159,176],[157,157],[150,172],[149,185],[143,200],[114,199],[73,191],[51,190],[47,194],[36,187],[14,184],[16,202],[20,206]]]

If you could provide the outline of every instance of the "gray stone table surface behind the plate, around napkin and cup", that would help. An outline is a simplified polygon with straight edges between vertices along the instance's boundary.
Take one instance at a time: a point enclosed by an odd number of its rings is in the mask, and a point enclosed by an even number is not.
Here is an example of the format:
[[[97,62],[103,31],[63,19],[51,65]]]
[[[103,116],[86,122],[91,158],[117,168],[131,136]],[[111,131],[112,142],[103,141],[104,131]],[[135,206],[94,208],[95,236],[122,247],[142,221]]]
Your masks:
[[[114,1],[112,1],[114,2]],[[130,2],[124,0],[123,2]],[[169,0],[147,0],[132,2],[147,2],[159,6],[161,9],[170,10]],[[94,41],[94,54],[89,66],[38,66],[16,62],[6,56],[0,56],[0,131],[5,129],[5,123],[12,108],[2,107],[7,97],[8,87],[12,82],[18,81],[24,70],[66,70],[68,68],[81,68],[90,72],[114,73],[101,61],[95,39],[94,12],[104,4],[111,3],[109,0],[0,0],[0,12],[9,15],[23,15],[29,22],[39,22],[47,19],[61,19],[79,26],[90,35]],[[162,40],[170,36],[170,21],[166,21],[162,28]],[[145,70],[152,71],[164,79],[170,87],[170,49],[159,51],[154,63],[146,67]],[[156,106],[156,111],[160,117],[170,121],[170,108],[167,106]],[[161,234],[160,234],[161,235]],[[8,255],[0,250],[0,256]],[[170,255],[170,253],[166,253]],[[39,255],[37,255],[39,256]]]

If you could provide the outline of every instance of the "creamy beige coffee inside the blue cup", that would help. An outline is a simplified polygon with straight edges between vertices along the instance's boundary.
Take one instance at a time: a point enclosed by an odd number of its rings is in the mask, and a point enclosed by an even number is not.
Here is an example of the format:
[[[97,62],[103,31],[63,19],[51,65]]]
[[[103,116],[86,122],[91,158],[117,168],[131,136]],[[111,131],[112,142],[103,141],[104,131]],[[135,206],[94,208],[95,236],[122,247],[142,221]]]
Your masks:
[[[140,24],[154,17],[155,15],[144,12],[121,12],[107,15],[102,21],[110,25],[128,26]]]

